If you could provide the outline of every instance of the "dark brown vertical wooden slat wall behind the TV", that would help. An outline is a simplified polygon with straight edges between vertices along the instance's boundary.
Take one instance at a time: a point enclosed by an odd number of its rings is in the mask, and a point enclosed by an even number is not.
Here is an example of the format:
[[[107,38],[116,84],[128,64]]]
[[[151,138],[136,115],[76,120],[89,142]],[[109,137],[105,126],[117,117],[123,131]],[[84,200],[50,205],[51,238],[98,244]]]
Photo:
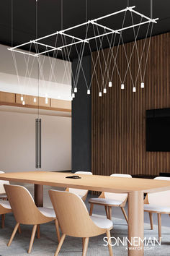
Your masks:
[[[137,43],[141,54],[144,40],[138,40]],[[146,49],[148,43],[149,38],[146,40]],[[120,46],[118,51],[117,67],[123,77],[127,62],[122,47]],[[125,44],[128,56],[132,48],[133,43]],[[113,50],[116,53],[117,47]],[[109,49],[105,49],[104,56],[108,53]],[[103,59],[101,51],[99,54]],[[146,55],[145,50],[142,70]],[[97,59],[97,52],[94,52],[93,59],[94,61]],[[138,68],[136,52],[133,54],[130,68],[134,79]],[[104,69],[104,61],[102,69]],[[97,61],[97,77],[101,85],[102,75],[99,61]],[[170,33],[151,38],[144,89],[140,88],[139,77],[137,91],[133,93],[133,85],[128,72],[125,90],[121,90],[120,78],[115,72],[112,78],[112,88],[108,88],[108,80],[105,77],[107,94],[102,93],[102,98],[100,98],[97,77],[93,77],[91,85],[91,169],[93,174],[158,175],[160,171],[170,172],[169,152],[146,152],[146,109],[170,108]]]

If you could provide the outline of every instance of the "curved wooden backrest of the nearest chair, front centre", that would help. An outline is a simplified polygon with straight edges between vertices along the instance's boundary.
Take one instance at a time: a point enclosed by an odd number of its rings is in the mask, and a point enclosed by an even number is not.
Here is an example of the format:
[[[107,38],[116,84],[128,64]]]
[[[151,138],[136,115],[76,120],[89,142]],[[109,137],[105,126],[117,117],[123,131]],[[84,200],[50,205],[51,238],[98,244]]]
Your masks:
[[[78,195],[53,189],[49,190],[49,195],[63,234],[90,237],[104,233],[104,229],[91,221],[86,205]]]

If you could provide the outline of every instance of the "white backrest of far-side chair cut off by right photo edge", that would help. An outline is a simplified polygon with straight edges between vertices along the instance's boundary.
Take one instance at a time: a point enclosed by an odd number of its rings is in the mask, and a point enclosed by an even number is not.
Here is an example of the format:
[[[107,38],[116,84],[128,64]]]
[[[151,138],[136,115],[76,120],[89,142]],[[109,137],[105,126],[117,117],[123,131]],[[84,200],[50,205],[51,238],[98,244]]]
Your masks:
[[[170,182],[170,177],[158,176],[155,179]],[[148,193],[148,203],[158,206],[170,207],[170,190],[156,193]]]

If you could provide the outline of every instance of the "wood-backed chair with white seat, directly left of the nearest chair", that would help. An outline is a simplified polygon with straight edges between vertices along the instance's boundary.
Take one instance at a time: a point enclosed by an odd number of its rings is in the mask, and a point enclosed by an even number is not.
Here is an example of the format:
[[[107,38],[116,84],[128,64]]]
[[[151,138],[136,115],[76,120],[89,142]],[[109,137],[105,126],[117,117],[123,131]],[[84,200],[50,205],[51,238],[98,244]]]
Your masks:
[[[32,244],[35,239],[35,233],[37,231],[37,238],[40,238],[40,224],[48,223],[50,221],[55,221],[55,228],[57,231],[58,242],[60,241],[60,232],[58,228],[58,220],[55,216],[55,212],[50,208],[43,208],[35,205],[30,192],[22,186],[4,184],[4,189],[6,195],[12,207],[12,212],[14,213],[14,218],[17,221],[12,236],[9,239],[10,246],[14,236],[19,228],[19,224],[33,225],[32,235],[30,240],[30,247],[28,253],[31,252]]]

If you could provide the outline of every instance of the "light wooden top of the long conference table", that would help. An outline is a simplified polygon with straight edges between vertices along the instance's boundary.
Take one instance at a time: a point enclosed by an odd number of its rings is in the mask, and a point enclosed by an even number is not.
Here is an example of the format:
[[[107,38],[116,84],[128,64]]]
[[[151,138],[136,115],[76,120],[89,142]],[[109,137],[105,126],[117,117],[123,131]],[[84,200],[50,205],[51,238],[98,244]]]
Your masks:
[[[102,175],[79,174],[81,179],[66,179],[73,174],[50,171],[27,171],[0,174],[0,180],[42,184],[54,187],[72,187],[105,192],[161,192],[170,190],[169,181],[156,179],[120,178]]]

